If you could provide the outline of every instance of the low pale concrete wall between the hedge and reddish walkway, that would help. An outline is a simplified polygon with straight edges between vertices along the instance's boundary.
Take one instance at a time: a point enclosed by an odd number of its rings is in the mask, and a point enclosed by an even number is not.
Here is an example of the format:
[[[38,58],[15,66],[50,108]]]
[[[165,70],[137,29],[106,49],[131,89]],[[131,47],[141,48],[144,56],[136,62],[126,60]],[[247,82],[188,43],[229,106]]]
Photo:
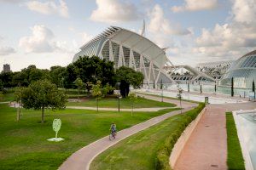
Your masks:
[[[205,113],[206,110],[207,109],[204,108],[201,111],[201,113],[195,118],[195,120],[193,122],[190,122],[190,124],[183,131],[183,133],[179,137],[179,139],[177,139],[177,143],[174,145],[174,147],[172,149],[170,159],[169,159],[169,164],[171,165],[172,168],[175,166],[177,158],[180,156],[180,154],[181,154],[185,144],[187,143],[190,135],[193,133],[196,125],[201,120],[201,116],[203,116],[203,114]]]

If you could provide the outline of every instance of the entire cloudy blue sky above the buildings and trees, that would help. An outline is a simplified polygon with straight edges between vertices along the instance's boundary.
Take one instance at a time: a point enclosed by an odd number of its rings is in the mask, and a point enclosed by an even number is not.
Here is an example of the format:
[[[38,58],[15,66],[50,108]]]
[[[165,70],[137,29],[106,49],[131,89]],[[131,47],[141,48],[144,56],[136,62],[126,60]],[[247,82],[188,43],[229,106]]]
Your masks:
[[[237,59],[256,48],[256,0],[0,0],[0,71],[67,65],[108,26],[140,32],[174,65]]]

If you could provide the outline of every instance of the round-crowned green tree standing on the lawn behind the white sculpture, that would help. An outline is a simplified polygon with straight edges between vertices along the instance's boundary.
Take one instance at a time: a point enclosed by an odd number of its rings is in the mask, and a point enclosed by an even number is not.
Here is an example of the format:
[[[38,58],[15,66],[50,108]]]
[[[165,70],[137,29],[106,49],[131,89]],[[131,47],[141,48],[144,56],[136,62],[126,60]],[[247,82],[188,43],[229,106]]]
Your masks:
[[[65,108],[67,96],[48,80],[38,80],[21,90],[21,103],[26,109],[42,110],[41,122],[44,122],[44,109]]]

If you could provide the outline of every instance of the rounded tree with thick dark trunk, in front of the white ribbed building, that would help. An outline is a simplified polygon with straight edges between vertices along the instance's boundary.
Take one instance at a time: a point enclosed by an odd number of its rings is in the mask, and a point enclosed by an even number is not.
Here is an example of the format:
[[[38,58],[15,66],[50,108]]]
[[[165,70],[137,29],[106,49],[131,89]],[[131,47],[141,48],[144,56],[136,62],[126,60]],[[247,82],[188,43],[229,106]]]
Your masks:
[[[133,88],[140,88],[143,83],[143,73],[140,71],[134,71],[130,67],[121,66],[116,71],[117,81],[120,82],[120,94],[123,98],[128,96],[130,91],[130,85]]]

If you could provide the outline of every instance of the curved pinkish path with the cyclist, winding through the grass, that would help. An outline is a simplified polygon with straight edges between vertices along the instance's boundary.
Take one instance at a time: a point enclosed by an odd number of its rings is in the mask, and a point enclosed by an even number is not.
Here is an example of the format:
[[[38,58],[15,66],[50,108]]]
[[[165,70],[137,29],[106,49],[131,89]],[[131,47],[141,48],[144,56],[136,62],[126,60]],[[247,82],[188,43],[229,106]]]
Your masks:
[[[148,96],[144,94],[140,94],[147,99],[160,100],[160,97]],[[179,101],[174,99],[165,99],[165,102],[179,104]],[[193,107],[197,106],[197,104],[184,102],[183,111],[189,111]],[[172,111],[166,113],[161,116],[156,116],[152,119],[149,119],[146,122],[141,122],[133,127],[125,128],[124,130],[119,131],[117,138],[113,141],[109,141],[108,136],[97,140],[87,146],[84,146],[81,150],[73,153],[72,156],[69,156],[66,161],[64,161],[59,167],[61,170],[88,170],[90,168],[90,162],[99,154],[101,154],[104,150],[107,150],[113,144],[117,144],[120,140],[125,139],[131,136],[134,133],[138,133],[143,129],[151,127],[159,122],[166,120],[167,118],[179,114],[180,111]]]

